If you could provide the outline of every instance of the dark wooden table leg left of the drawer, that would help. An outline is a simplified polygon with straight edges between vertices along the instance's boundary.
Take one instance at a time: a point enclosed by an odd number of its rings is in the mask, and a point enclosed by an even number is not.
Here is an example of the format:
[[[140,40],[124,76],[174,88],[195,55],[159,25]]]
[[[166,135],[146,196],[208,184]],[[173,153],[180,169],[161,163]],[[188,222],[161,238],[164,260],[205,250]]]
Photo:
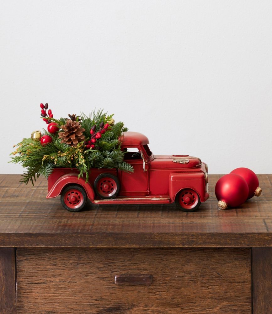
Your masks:
[[[15,249],[0,248],[0,313],[16,314]]]

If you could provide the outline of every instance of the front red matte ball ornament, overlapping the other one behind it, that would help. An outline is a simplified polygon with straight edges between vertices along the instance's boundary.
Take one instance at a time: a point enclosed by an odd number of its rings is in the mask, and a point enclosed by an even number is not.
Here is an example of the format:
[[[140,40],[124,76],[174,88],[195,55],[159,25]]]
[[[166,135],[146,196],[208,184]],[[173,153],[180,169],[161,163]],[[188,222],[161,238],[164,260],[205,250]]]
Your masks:
[[[237,207],[248,198],[248,184],[241,176],[230,173],[216,182],[215,195],[219,201],[219,209]]]

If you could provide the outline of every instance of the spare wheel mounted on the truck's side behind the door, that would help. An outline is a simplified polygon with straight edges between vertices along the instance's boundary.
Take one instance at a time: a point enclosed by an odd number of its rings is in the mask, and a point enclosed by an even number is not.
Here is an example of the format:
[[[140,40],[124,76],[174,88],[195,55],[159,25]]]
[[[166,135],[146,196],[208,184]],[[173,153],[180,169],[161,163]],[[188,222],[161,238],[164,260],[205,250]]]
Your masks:
[[[96,195],[103,199],[112,199],[120,190],[120,182],[117,176],[110,173],[101,173],[93,183]]]

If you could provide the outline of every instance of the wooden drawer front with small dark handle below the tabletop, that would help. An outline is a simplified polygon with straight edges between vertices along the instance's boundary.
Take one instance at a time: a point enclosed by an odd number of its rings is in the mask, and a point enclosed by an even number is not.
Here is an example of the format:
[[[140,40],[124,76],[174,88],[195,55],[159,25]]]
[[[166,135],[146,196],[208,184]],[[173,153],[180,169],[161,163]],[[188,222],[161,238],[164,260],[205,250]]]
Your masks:
[[[17,250],[18,314],[251,314],[251,251]]]

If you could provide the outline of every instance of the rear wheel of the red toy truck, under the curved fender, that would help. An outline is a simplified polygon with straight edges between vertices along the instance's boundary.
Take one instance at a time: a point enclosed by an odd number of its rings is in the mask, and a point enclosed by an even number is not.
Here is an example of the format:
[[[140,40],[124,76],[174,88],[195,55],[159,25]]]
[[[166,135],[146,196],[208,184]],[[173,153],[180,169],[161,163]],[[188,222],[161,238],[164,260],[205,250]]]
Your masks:
[[[86,204],[87,194],[83,187],[70,185],[61,192],[61,204],[70,212],[79,212]]]

